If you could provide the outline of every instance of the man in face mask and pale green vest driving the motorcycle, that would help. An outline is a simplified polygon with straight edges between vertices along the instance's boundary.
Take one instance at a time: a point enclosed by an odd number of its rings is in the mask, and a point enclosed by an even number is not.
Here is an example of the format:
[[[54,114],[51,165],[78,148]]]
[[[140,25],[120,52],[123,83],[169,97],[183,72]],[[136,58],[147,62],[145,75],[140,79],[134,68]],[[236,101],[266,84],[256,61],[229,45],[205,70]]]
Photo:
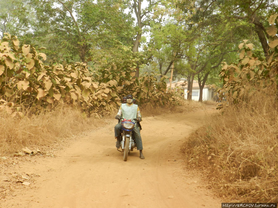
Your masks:
[[[115,119],[119,119],[120,116],[123,115],[123,118],[125,118],[125,119],[132,120],[134,118],[137,118],[139,121],[142,121],[142,116],[141,116],[140,110],[138,108],[138,105],[133,104],[133,96],[127,95],[126,98],[127,98],[127,103],[121,105],[121,107],[119,108],[119,112],[115,116]],[[120,148],[121,132],[122,132],[122,124],[118,123],[115,126],[115,139],[117,139],[117,141],[116,141],[117,149]],[[134,137],[135,137],[137,150],[140,151],[139,157],[141,159],[145,159],[145,157],[143,156],[143,153],[142,153],[143,145],[142,145],[142,139],[141,139],[140,130],[139,130],[138,126],[135,126],[133,128],[133,133],[134,133]]]

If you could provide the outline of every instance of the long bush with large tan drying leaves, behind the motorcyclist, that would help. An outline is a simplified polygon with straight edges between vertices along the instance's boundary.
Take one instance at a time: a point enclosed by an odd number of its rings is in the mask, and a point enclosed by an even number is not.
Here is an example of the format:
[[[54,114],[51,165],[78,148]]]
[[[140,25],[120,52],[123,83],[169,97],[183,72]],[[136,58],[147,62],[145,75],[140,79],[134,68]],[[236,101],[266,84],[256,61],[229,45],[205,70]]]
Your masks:
[[[133,94],[138,104],[176,105],[183,101],[166,91],[165,77],[155,74],[135,78],[132,68],[119,73],[116,66],[92,73],[85,63],[44,65],[44,53],[20,45],[5,34],[0,42],[0,97],[34,112],[55,103],[80,104],[86,112],[106,114],[120,105],[119,96]]]

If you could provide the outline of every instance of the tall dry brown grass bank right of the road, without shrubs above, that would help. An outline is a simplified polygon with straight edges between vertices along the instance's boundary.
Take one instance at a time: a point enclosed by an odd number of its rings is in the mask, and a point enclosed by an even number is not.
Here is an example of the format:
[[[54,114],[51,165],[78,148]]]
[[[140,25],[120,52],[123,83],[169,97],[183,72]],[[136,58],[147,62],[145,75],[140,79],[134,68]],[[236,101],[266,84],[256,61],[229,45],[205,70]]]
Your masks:
[[[204,167],[217,193],[235,202],[278,201],[277,92],[268,90],[213,115],[182,148],[188,165]]]

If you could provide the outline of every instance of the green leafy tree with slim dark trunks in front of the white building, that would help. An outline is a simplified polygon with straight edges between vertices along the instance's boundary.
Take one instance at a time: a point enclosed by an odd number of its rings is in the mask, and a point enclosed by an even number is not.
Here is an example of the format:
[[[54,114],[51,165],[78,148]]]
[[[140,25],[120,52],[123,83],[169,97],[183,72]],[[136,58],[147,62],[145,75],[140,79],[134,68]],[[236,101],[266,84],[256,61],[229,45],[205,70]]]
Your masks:
[[[221,2],[223,1],[177,2],[177,6],[183,10],[184,19],[187,20],[184,23],[189,26],[192,35],[196,37],[196,45],[193,46],[196,51],[190,53],[192,56],[189,54],[186,57],[191,65],[191,70],[188,71],[187,76],[189,90],[187,99],[191,99],[192,82],[195,75],[199,78],[201,91],[209,71],[218,69],[221,62],[229,58],[231,52],[237,51],[240,40],[252,38],[252,32],[246,33],[246,22],[238,23],[225,17],[219,7]],[[229,10],[228,5],[225,10]],[[198,75],[199,73],[202,75]],[[200,96],[199,101],[201,100],[202,97]]]

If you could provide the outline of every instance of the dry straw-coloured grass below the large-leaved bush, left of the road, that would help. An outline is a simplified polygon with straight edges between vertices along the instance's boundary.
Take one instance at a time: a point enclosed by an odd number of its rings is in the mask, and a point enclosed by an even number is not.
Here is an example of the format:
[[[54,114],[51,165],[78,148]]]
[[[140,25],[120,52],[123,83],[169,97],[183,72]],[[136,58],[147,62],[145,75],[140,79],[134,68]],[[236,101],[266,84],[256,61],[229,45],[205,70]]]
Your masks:
[[[78,108],[64,104],[39,115],[28,114],[26,110],[23,116],[12,117],[0,112],[0,154],[15,153],[23,146],[48,145],[96,125],[94,117],[88,118]]]

